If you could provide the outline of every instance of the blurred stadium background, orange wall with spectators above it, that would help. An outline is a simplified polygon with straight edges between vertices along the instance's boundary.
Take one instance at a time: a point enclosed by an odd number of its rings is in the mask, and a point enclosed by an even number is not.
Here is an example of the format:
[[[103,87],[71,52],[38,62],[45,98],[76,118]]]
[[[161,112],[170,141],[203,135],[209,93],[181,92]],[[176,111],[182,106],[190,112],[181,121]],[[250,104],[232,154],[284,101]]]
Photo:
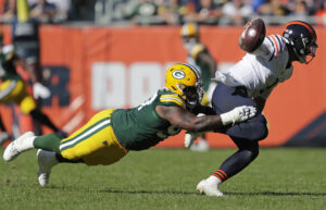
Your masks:
[[[18,1],[0,0],[5,44],[16,38]],[[28,0],[28,9],[39,24],[40,73],[51,90],[41,109],[68,133],[99,110],[137,106],[163,87],[166,66],[186,61],[183,23],[200,24],[201,41],[223,70],[243,55],[237,41],[248,20],[262,17],[267,35],[280,34],[289,21],[306,21],[317,32],[317,57],[294,64],[292,78],[269,97],[269,135],[261,145],[326,146],[325,0]],[[13,104],[0,112],[14,135],[35,129]],[[224,135],[208,139],[215,148],[234,147]],[[159,147],[183,147],[183,134]]]

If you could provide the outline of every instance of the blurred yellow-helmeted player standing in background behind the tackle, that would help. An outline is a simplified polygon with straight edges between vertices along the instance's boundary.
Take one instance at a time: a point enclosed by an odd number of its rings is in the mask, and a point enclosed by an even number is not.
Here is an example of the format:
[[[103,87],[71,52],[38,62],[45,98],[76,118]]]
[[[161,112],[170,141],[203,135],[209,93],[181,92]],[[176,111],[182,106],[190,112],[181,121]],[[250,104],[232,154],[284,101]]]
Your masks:
[[[204,96],[201,104],[209,106],[211,103],[211,95],[213,94],[215,83],[211,82],[215,77],[216,62],[208,50],[206,46],[200,42],[199,26],[196,23],[186,23],[181,27],[181,39],[184,48],[188,52],[187,63],[196,65],[201,71]],[[189,146],[192,151],[206,151],[210,146],[205,139],[205,134],[197,144]]]

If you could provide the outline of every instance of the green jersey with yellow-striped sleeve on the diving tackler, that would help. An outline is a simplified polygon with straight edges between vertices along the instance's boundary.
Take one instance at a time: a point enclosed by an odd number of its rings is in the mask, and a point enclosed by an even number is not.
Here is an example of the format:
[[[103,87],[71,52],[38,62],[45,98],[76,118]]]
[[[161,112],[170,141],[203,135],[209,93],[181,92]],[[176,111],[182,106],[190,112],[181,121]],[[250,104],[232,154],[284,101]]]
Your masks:
[[[181,97],[167,89],[161,89],[134,109],[115,110],[111,115],[111,123],[122,146],[128,150],[148,149],[180,132],[180,128],[159,116],[156,106],[176,106],[186,109],[186,102]]]

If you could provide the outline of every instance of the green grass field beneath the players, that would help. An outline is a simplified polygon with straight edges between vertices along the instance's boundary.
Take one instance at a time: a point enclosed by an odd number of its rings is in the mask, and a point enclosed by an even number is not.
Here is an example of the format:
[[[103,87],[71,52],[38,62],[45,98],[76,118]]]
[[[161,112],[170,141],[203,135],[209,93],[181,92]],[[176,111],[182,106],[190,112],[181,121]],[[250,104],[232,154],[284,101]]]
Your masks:
[[[37,183],[36,150],[28,151],[10,163],[0,160],[0,209],[326,209],[325,149],[262,149],[249,168],[222,185],[225,197],[197,194],[198,182],[234,151],[151,149],[110,166],[61,164],[47,188]]]

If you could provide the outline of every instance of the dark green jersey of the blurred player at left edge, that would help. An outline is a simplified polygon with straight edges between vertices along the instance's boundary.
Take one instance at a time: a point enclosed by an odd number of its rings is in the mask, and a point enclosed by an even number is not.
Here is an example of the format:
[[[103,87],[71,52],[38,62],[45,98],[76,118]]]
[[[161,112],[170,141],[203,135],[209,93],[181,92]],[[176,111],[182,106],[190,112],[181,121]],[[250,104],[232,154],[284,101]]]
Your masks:
[[[17,74],[14,60],[16,59],[13,46],[4,46],[0,51],[0,78],[2,81],[7,79],[21,79],[21,76]]]

